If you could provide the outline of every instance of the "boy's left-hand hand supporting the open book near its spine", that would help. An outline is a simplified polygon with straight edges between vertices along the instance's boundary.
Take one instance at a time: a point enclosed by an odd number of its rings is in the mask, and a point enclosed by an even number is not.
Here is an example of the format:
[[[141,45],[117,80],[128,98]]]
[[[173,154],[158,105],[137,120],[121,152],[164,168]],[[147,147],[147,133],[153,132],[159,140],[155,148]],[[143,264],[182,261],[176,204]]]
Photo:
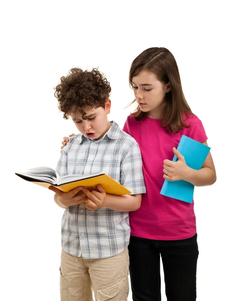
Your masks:
[[[82,187],[76,187],[69,192],[63,192],[54,186],[49,186],[49,189],[56,193],[58,202],[66,208],[84,203],[88,199],[87,195],[82,191]]]

